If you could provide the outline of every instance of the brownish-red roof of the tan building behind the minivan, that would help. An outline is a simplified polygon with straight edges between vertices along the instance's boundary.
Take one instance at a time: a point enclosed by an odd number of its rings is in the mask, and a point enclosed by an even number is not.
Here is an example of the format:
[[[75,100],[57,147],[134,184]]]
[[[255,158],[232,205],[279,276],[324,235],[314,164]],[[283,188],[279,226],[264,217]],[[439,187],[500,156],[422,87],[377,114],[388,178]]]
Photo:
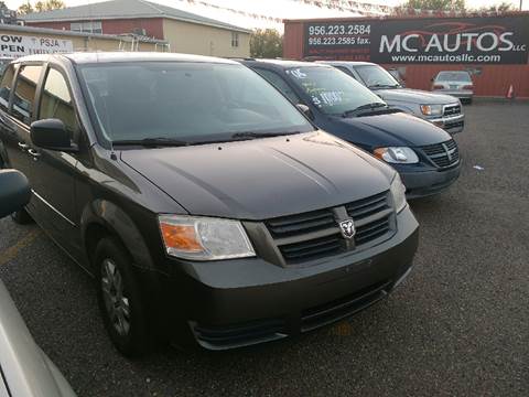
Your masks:
[[[166,18],[250,33],[249,30],[145,0],[111,0],[21,17],[28,23],[109,19]]]

